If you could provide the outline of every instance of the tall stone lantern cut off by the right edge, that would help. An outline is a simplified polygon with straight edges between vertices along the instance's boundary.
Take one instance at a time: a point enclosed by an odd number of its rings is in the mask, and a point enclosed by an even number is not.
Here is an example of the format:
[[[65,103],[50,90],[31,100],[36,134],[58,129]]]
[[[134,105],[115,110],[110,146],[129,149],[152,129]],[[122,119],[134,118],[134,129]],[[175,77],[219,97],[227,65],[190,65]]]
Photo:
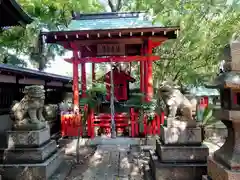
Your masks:
[[[224,145],[208,158],[208,176],[203,179],[240,179],[240,41],[231,44],[231,59],[225,72],[211,87],[220,89],[221,108],[214,111],[228,129]],[[210,86],[210,85],[209,85]]]

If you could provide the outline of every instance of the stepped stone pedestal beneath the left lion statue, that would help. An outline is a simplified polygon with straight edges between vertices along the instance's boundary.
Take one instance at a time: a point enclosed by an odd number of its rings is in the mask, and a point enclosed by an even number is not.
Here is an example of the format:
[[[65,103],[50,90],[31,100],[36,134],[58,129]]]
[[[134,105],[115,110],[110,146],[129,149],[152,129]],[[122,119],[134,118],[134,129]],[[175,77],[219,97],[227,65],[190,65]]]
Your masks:
[[[49,128],[9,131],[8,148],[1,149],[3,178],[47,180],[63,163],[64,152],[50,140]]]

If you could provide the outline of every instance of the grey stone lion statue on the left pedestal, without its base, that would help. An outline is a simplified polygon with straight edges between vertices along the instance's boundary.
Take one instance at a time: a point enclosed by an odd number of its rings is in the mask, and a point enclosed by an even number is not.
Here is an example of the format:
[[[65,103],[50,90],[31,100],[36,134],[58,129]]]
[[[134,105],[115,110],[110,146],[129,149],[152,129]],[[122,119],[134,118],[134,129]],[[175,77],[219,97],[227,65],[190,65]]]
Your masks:
[[[39,130],[46,127],[43,117],[45,90],[43,86],[33,85],[24,88],[25,95],[20,102],[14,101],[10,117],[15,130]]]

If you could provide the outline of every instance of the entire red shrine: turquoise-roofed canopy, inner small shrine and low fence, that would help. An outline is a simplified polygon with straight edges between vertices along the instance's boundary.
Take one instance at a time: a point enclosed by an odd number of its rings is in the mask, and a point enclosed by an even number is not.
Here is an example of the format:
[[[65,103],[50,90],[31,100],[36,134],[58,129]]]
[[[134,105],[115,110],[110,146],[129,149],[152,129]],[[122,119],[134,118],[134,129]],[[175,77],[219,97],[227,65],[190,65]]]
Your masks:
[[[153,49],[168,39],[177,37],[179,27],[165,27],[162,24],[153,24],[152,19],[145,13],[74,13],[68,27],[59,27],[58,31],[42,32],[42,43],[53,43],[63,46],[73,52],[73,56],[65,61],[73,64],[73,111],[62,119],[62,135],[77,136],[78,127],[82,127],[79,114],[79,99],[87,96],[86,90],[86,63],[92,63],[92,81],[95,81],[96,63],[121,63],[139,61],[140,91],[145,95],[145,101],[150,102],[153,96],[152,66],[160,59],[154,55]],[[79,96],[78,66],[81,66],[81,91]],[[105,75],[107,97],[110,101],[113,79],[114,96],[118,101],[126,101],[129,82],[135,79],[125,72],[111,69]],[[85,108],[86,110],[87,108]],[[111,109],[111,108],[110,108]],[[114,112],[116,129],[131,129],[131,136],[138,134],[138,113],[130,110],[125,113]],[[88,110],[87,134],[95,136],[95,127],[111,128],[112,114],[97,114]],[[67,118],[65,118],[67,117]],[[160,132],[159,117],[153,121],[152,133]],[[147,134],[147,125],[145,134]]]

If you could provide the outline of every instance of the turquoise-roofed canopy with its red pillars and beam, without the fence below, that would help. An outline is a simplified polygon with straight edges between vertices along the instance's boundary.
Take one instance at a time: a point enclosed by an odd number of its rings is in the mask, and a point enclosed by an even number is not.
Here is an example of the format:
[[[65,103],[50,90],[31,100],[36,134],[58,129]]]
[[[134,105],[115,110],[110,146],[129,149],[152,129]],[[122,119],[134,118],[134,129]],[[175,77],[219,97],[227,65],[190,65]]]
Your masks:
[[[65,61],[73,64],[74,113],[79,114],[79,64],[82,97],[86,97],[86,63],[92,63],[94,81],[95,63],[140,61],[140,90],[145,100],[150,101],[153,96],[152,62],[160,59],[152,54],[152,49],[168,39],[175,39],[178,30],[179,27],[152,25],[144,13],[100,13],[74,15],[67,29],[41,35],[46,43],[59,44],[73,52],[73,57]]]

